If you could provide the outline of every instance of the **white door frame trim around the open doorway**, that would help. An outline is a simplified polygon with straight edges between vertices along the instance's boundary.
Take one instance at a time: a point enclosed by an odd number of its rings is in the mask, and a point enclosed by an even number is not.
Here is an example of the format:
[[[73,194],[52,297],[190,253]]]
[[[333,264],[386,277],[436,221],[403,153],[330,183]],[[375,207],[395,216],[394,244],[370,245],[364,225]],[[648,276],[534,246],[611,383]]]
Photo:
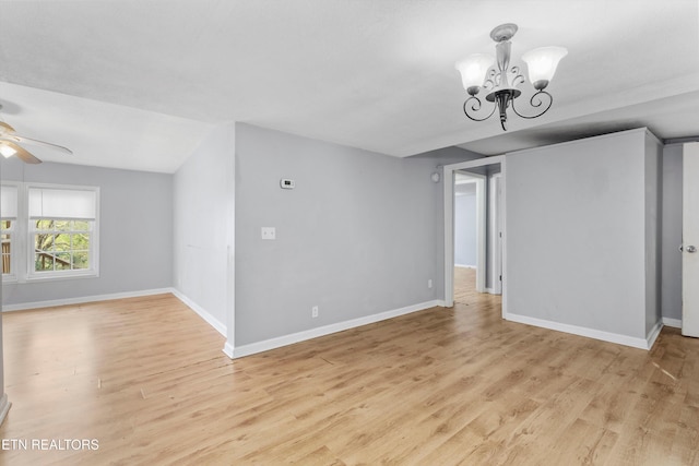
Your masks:
[[[506,235],[506,163],[503,155],[476,158],[459,164],[445,165],[442,167],[445,180],[443,213],[445,213],[445,307],[454,306],[454,172],[469,168],[485,167],[500,164],[500,230],[502,231],[502,270],[507,270],[507,235]],[[485,198],[485,196],[484,196]],[[485,258],[484,258],[485,261]],[[485,262],[484,262],[485,263]],[[476,271],[477,272],[477,271]],[[507,314],[507,280],[502,276],[502,315]]]

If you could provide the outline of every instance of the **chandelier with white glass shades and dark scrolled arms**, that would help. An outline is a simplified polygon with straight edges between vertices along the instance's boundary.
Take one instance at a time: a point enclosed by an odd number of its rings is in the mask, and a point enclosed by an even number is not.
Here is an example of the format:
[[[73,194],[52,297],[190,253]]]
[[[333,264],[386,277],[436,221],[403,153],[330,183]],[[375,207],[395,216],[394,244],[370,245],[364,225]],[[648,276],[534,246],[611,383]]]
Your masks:
[[[473,121],[484,121],[497,109],[505,131],[507,131],[507,109],[510,107],[519,117],[526,119],[541,117],[548,111],[554,98],[544,89],[554,77],[558,62],[568,53],[568,50],[562,47],[541,47],[522,56],[529,70],[529,80],[536,92],[530,98],[531,108],[520,113],[514,106],[514,99],[522,94],[517,86],[525,80],[520,67],[510,68],[510,49],[512,48],[510,39],[514,33],[517,33],[517,24],[508,23],[497,26],[490,32],[490,38],[496,41],[496,58],[487,53],[474,53],[457,63],[463,88],[469,93],[469,98],[463,103],[466,117]],[[496,63],[497,70],[494,68]],[[483,108],[483,101],[477,97],[482,88],[487,92],[485,99],[493,103],[489,113]]]

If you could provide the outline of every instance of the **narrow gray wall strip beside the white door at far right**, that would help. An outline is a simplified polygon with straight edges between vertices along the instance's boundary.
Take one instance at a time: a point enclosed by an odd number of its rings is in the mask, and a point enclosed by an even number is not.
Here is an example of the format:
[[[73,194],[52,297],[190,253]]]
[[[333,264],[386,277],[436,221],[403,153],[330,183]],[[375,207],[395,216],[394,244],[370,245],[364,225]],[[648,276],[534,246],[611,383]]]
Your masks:
[[[682,144],[663,150],[662,284],[663,318],[682,320]]]

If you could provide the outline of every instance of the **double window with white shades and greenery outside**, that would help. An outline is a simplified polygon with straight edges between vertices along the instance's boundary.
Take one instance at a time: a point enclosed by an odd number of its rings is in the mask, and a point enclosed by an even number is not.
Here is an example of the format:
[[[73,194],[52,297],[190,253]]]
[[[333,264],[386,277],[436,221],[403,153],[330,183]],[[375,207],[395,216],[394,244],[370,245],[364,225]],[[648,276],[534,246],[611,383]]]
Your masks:
[[[13,200],[11,188],[3,183],[1,194],[3,279],[96,276],[98,189],[24,183]]]

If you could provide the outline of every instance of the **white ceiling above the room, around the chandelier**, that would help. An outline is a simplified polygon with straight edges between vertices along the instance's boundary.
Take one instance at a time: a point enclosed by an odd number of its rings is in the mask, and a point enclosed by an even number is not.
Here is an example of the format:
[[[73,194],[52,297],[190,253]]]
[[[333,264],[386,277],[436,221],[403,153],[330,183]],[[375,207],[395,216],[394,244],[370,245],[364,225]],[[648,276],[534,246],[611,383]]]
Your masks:
[[[453,63],[569,50],[535,120],[472,122]],[[699,135],[697,0],[0,0],[0,103],[45,160],[173,172],[244,121],[394,156],[648,126]]]

